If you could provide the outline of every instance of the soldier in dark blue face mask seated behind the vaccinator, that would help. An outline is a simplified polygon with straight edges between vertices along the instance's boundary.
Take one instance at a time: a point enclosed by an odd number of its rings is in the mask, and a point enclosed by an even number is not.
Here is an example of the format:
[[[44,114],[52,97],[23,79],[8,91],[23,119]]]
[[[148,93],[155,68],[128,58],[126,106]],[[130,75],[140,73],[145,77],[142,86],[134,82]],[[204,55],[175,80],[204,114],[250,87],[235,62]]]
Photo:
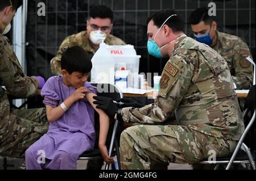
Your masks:
[[[206,7],[193,11],[190,23],[195,39],[208,44],[228,62],[237,89],[250,89],[253,65],[246,60],[246,57],[252,57],[246,42],[240,37],[217,31],[217,22],[208,15]]]

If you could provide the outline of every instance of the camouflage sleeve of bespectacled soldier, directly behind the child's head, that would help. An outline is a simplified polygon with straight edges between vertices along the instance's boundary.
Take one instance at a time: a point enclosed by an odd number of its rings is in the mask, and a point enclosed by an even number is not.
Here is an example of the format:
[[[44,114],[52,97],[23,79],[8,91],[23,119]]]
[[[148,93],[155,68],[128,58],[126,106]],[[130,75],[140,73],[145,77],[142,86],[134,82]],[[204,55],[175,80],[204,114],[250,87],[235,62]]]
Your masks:
[[[56,74],[56,75],[61,74],[60,60],[64,50],[76,45],[78,45],[78,43],[76,41],[75,35],[68,36],[64,39],[64,41],[60,45],[59,50],[57,51],[57,55],[53,57],[51,60],[51,70],[53,74]]]

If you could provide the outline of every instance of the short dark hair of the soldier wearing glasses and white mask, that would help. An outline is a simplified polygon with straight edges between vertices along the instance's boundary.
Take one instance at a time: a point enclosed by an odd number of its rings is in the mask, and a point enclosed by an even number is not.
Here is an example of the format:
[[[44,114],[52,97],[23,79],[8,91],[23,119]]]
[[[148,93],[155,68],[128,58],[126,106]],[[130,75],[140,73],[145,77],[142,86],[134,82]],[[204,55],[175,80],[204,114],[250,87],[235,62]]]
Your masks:
[[[113,22],[113,12],[104,5],[92,6],[90,8],[89,18],[109,18]]]

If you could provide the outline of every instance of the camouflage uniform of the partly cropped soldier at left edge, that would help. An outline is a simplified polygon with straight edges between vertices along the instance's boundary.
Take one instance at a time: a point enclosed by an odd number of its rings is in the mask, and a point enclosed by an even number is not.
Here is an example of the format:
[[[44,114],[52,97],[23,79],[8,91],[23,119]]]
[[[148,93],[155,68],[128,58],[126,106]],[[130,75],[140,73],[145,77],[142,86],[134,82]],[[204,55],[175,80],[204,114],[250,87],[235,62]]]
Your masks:
[[[39,85],[24,75],[7,37],[0,35],[0,82],[10,95],[28,98]],[[7,91],[0,87],[0,154],[24,157],[26,149],[48,131],[46,109],[11,110]]]

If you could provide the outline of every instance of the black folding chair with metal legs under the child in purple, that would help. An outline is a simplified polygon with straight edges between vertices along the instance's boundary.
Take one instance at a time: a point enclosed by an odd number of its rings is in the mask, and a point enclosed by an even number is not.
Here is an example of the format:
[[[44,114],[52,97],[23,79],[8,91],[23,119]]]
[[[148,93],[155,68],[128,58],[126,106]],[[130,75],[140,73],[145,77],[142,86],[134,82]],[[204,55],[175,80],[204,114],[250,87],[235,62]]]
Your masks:
[[[118,87],[111,85],[109,83],[92,83],[93,86],[97,87],[98,94],[100,96],[106,96],[112,98],[113,100],[118,100],[123,98],[122,92],[118,89]],[[117,133],[118,120],[115,121],[112,137],[109,146],[109,156],[113,157],[113,150],[115,146],[115,154],[117,155],[118,167],[120,168],[120,154],[119,154],[119,146],[118,141],[115,138],[115,134]],[[99,149],[93,149],[89,151],[85,151],[79,157],[79,160],[92,160],[92,159],[101,159],[101,153]],[[109,169],[109,163],[106,163],[105,170]]]

